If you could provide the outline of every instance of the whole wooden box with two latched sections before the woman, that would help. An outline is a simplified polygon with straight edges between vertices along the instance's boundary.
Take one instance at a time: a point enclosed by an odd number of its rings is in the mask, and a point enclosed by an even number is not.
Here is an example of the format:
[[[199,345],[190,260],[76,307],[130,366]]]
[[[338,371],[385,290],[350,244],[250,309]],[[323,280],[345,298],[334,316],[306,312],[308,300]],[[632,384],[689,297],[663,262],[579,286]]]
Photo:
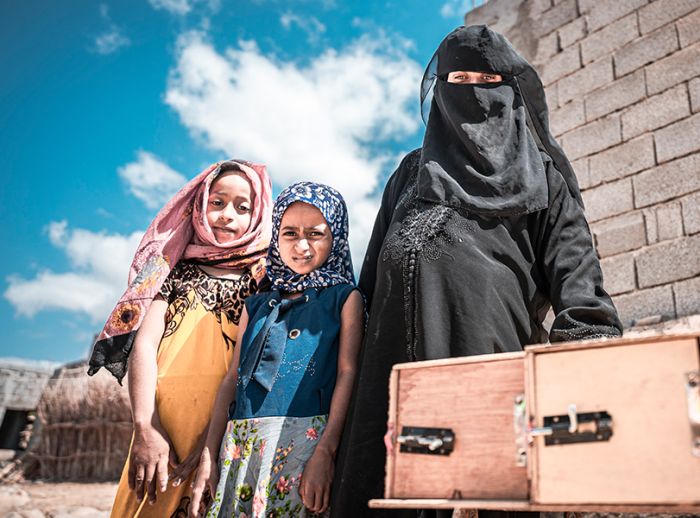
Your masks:
[[[691,334],[397,365],[370,505],[699,512],[698,351]]]

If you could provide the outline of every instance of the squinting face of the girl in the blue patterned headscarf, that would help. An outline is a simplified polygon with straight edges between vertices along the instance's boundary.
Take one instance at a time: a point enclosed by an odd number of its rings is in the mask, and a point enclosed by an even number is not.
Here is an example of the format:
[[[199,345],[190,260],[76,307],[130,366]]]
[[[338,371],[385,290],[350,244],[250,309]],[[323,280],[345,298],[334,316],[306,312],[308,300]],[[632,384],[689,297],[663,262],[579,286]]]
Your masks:
[[[308,203],[295,202],[282,215],[278,244],[284,264],[303,275],[326,262],[333,235],[320,210]]]

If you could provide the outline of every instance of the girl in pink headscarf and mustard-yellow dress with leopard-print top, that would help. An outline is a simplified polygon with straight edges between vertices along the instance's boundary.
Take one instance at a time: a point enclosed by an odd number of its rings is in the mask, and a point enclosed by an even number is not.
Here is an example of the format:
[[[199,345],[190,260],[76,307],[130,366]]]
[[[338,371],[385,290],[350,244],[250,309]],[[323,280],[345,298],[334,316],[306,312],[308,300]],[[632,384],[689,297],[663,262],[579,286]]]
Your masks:
[[[271,208],[265,167],[229,160],[190,181],[146,230],[90,358],[90,374],[105,367],[120,382],[129,365],[134,436],[113,517],[187,514],[243,301],[265,274]]]

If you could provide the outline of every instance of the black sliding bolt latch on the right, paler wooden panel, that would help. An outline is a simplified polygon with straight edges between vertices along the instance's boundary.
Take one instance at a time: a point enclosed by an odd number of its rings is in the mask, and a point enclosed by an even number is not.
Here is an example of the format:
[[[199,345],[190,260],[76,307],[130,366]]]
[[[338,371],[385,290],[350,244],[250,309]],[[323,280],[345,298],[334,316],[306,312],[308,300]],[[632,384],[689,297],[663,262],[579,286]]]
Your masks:
[[[577,413],[569,405],[566,415],[545,416],[544,426],[530,430],[530,437],[544,436],[545,446],[578,442],[609,441],[613,434],[612,416],[605,410]]]

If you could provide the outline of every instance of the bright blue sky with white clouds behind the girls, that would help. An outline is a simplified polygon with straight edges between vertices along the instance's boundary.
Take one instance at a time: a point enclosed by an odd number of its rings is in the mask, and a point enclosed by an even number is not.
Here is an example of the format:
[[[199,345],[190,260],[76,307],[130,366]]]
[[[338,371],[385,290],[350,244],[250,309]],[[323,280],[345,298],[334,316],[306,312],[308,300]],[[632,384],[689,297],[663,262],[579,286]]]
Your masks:
[[[162,203],[226,157],[377,195],[464,0],[0,3],[0,357],[86,357]]]

